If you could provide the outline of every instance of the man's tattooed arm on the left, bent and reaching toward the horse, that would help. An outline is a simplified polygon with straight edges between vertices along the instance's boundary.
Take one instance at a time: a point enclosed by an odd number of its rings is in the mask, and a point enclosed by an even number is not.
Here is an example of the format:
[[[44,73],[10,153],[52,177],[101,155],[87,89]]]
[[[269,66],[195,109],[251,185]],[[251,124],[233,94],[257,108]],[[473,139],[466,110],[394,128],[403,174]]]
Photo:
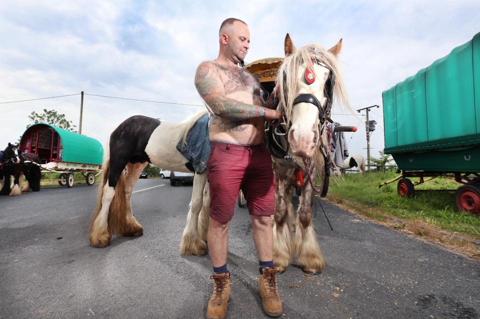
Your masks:
[[[218,73],[208,62],[201,63],[195,74],[195,87],[213,114],[232,121],[263,117],[265,108],[225,97]]]

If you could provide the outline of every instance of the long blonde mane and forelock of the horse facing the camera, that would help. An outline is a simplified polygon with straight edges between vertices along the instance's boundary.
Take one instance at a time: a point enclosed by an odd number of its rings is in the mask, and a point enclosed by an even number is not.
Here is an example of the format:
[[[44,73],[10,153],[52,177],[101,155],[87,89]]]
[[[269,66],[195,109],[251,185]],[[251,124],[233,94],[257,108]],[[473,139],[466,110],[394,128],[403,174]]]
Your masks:
[[[312,57],[321,60],[322,63],[331,70],[333,78],[336,80],[336,83],[333,86],[333,100],[336,101],[339,106],[343,105],[346,110],[351,111],[343,84],[343,76],[336,57],[325,50],[322,46],[311,43],[293,51],[284,59],[278,69],[278,75],[276,78],[276,86],[278,86],[277,94],[279,104],[283,107],[285,112],[287,125],[289,125],[291,120],[293,100],[298,91],[298,68],[303,61],[306,61],[308,68],[314,72]]]

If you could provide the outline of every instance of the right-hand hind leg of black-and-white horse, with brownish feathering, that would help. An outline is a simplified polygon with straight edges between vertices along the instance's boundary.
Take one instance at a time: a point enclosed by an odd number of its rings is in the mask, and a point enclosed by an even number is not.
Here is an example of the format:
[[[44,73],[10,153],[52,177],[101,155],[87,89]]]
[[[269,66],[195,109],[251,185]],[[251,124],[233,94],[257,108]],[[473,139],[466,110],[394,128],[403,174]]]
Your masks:
[[[138,181],[141,171],[145,168],[148,163],[135,163],[126,164],[127,173],[125,176],[125,203],[126,203],[126,214],[125,214],[125,226],[121,230],[119,235],[123,236],[141,236],[143,235],[143,227],[138,223],[138,221],[133,217],[133,212],[131,210],[130,198],[133,191],[133,187]]]

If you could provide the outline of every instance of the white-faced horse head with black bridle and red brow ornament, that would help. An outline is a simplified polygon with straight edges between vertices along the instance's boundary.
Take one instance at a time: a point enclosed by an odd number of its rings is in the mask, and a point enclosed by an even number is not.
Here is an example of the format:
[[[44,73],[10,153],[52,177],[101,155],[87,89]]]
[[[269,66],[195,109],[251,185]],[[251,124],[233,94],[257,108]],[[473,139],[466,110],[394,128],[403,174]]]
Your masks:
[[[334,97],[349,108],[336,59],[340,50],[341,39],[329,50],[318,44],[296,49],[288,33],[285,37],[286,57],[276,83],[293,155],[309,158],[318,149]]]

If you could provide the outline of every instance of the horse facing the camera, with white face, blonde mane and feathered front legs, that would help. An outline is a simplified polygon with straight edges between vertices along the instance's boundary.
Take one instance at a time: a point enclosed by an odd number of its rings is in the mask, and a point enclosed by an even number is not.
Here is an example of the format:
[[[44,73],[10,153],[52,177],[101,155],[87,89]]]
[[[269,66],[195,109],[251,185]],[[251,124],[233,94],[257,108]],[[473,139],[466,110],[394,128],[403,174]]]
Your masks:
[[[325,124],[330,120],[333,99],[349,109],[336,59],[340,50],[341,39],[329,50],[318,44],[296,49],[289,35],[285,37],[286,57],[276,79],[278,107],[285,113],[285,134],[277,138],[288,156],[273,157],[273,261],[279,272],[285,270],[292,256],[306,273],[319,273],[325,266],[312,226],[312,179],[318,174],[325,181],[325,173],[329,174],[325,166],[325,161],[329,164]],[[305,181],[303,185],[299,179]],[[290,201],[295,186],[301,191],[296,219]]]

